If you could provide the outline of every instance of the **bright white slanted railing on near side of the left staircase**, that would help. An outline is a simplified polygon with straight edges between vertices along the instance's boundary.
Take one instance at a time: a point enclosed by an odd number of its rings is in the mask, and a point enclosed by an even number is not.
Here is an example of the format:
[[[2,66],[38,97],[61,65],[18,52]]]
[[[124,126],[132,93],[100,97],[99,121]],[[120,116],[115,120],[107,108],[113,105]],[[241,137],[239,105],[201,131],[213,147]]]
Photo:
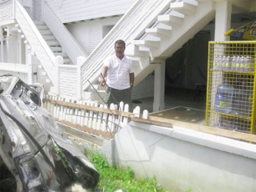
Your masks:
[[[58,86],[57,68],[55,66],[55,55],[46,44],[44,38],[36,28],[34,22],[29,17],[25,9],[17,1],[15,1],[15,19],[19,27],[35,51],[39,61],[44,67],[48,77],[51,79],[52,84]]]

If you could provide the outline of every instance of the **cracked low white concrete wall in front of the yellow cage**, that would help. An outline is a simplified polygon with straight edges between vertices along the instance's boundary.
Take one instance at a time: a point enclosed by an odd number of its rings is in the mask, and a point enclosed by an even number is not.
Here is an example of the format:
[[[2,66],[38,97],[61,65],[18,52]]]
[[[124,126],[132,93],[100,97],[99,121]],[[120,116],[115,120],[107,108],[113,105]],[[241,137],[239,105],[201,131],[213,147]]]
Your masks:
[[[183,127],[131,121],[103,154],[138,177],[156,177],[165,190],[255,191],[256,147]]]

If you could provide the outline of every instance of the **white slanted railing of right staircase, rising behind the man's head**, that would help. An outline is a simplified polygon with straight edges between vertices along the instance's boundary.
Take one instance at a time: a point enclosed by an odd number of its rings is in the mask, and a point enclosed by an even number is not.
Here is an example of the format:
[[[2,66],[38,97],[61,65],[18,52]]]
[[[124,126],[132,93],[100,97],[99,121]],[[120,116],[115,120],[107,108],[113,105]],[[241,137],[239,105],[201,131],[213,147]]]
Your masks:
[[[95,81],[98,78],[102,61],[114,53],[115,40],[121,38],[126,41],[127,46],[132,46],[133,40],[138,39],[145,32],[145,28],[152,25],[158,15],[169,8],[170,2],[171,0],[138,0],[135,2],[82,65],[83,90],[90,85],[88,80]]]

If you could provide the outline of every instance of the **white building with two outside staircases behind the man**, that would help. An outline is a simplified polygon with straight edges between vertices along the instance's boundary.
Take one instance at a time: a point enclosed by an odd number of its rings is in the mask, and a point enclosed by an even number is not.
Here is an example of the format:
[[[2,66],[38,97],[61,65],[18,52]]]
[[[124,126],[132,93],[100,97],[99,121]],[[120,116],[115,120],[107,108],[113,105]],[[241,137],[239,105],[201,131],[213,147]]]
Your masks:
[[[158,111],[165,88],[206,84],[208,41],[229,40],[224,32],[255,11],[254,0],[5,0],[0,72],[40,82],[45,94],[97,100],[91,84],[121,38],[135,68],[133,98],[154,96]]]

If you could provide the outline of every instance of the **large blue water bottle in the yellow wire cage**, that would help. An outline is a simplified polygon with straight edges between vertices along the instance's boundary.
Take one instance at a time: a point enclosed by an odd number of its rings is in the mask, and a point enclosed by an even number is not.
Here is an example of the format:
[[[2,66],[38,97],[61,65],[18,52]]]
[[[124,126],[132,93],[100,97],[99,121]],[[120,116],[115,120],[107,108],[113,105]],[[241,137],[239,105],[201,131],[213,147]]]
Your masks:
[[[224,84],[219,84],[214,101],[214,110],[221,113],[230,113],[232,110],[233,86],[225,81]]]

